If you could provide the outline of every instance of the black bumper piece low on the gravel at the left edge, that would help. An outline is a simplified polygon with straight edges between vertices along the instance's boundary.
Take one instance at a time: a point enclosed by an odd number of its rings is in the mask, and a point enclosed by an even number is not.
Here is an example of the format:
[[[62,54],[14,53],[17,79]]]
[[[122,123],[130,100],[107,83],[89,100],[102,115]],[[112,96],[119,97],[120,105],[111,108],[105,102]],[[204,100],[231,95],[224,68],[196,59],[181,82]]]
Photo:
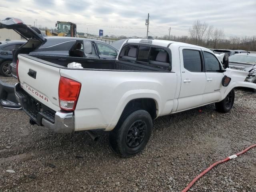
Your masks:
[[[0,80],[0,105],[4,108],[21,109],[15,97],[14,85],[4,83]]]

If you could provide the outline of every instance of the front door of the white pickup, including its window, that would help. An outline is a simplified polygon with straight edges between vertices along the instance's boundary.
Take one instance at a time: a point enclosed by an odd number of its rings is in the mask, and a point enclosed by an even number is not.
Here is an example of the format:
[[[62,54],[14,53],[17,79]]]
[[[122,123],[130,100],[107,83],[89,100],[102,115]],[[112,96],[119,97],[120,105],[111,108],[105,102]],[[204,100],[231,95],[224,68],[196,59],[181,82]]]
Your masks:
[[[202,50],[204,56],[204,67],[206,73],[206,87],[204,90],[204,104],[220,100],[222,78],[224,77],[221,64],[214,54],[208,50]]]

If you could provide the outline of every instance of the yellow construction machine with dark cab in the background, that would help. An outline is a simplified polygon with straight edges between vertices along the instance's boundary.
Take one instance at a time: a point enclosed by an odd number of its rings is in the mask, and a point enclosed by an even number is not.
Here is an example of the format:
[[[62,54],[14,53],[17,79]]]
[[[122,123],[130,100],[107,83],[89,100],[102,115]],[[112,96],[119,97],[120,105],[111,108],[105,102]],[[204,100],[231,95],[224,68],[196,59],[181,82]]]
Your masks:
[[[45,30],[46,36],[76,37],[76,24],[72,22],[57,21],[55,24],[57,32]]]

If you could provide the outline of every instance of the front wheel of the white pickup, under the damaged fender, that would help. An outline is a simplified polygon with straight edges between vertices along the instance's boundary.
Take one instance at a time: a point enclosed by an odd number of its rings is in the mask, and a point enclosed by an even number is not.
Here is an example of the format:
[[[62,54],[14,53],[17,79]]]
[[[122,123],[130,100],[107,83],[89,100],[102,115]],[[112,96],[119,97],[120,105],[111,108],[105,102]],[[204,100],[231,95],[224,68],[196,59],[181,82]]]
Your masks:
[[[224,100],[215,103],[215,107],[216,110],[220,113],[227,113],[229,112],[234,104],[234,100],[235,100],[235,91],[234,89],[232,89],[228,95],[226,96],[226,98],[224,98]]]

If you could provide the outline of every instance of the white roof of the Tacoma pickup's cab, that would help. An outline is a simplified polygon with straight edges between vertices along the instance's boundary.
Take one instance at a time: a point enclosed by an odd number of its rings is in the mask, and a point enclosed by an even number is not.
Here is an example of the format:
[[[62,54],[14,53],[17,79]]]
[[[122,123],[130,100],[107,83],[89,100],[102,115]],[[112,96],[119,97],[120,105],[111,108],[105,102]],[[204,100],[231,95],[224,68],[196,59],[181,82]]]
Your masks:
[[[140,42],[141,40],[146,40],[146,39],[128,39],[127,41],[125,41],[124,43],[141,43],[143,44],[143,42]],[[148,39],[151,40],[151,39]],[[171,44],[175,44],[177,46],[184,46],[184,47],[192,47],[192,48],[199,48],[199,49],[207,49],[205,47],[201,47],[201,46],[197,46],[197,45],[192,45],[192,44],[188,44],[188,43],[182,43],[182,42],[176,42],[176,41],[168,41],[168,40],[159,40],[159,39],[152,39],[152,45],[157,45],[157,46],[163,46],[163,47],[168,47]],[[148,44],[148,43],[144,43],[144,44]]]

